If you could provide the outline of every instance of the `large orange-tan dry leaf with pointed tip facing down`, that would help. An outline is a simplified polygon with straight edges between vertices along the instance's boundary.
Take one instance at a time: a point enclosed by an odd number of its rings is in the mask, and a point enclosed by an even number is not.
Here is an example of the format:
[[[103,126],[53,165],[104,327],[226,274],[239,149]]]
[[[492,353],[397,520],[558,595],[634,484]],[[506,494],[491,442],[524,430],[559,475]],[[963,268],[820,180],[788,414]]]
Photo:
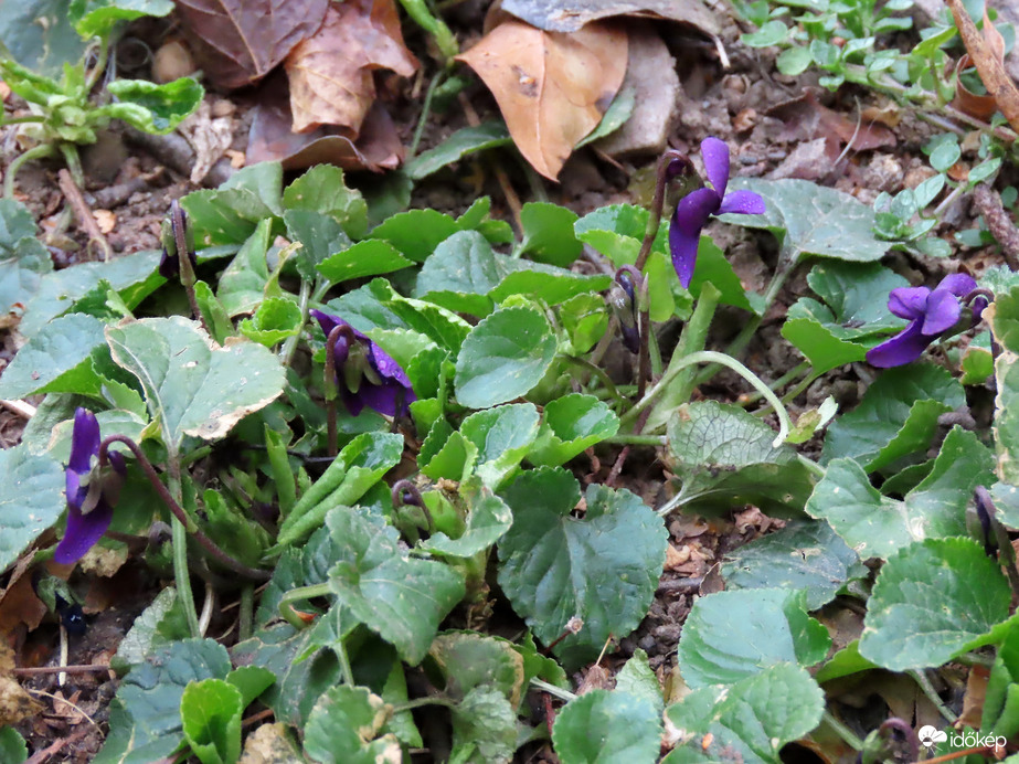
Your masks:
[[[626,32],[594,22],[579,32],[499,24],[457,56],[496,96],[517,148],[556,180],[576,142],[602,120],[626,74]]]

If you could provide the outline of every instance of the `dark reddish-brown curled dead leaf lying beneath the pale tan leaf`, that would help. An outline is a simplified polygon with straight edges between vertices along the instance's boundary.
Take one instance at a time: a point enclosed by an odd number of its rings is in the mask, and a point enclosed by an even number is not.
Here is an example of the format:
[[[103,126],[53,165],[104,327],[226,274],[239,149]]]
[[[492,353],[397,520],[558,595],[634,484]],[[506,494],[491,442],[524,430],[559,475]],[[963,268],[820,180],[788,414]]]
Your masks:
[[[319,127],[311,132],[293,132],[290,124],[285,84],[266,83],[248,134],[247,163],[280,161],[285,170],[330,163],[344,170],[381,172],[395,169],[403,161],[403,145],[381,104],[374,104],[369,110],[362,135],[357,140],[343,128]]]

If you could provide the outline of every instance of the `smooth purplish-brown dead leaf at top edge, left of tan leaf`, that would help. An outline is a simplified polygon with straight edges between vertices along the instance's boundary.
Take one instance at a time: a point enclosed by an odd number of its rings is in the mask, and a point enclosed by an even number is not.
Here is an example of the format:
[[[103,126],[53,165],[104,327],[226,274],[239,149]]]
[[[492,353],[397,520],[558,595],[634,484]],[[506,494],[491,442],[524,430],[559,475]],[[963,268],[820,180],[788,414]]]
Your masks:
[[[261,79],[322,24],[329,0],[177,0],[204,45],[194,54],[214,84],[232,89]]]

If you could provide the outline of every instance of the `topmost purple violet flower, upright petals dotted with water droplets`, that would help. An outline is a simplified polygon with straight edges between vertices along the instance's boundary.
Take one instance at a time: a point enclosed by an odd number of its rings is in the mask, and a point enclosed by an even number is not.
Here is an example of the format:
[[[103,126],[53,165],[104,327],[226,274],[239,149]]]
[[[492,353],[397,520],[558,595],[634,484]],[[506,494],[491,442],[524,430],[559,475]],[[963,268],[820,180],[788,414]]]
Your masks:
[[[684,289],[693,279],[701,229],[707,225],[711,215],[723,215],[728,212],[760,215],[765,211],[764,200],[753,191],[725,193],[725,187],[729,185],[729,147],[723,141],[718,138],[704,138],[701,141],[701,157],[712,188],[698,189],[680,199],[669,226],[672,267],[676,268],[676,275],[679,276],[679,283]]]

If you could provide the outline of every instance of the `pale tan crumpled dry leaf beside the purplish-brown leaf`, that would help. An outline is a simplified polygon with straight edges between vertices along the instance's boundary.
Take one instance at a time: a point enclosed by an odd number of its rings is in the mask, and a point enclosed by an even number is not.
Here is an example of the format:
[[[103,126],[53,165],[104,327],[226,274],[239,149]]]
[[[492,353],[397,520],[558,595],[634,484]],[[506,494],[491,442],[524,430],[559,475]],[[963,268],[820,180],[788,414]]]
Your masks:
[[[408,77],[417,59],[403,44],[394,0],[347,0],[329,6],[321,28],[294,49],[286,68],[295,132],[339,125],[357,136],[375,100],[372,71]]]

